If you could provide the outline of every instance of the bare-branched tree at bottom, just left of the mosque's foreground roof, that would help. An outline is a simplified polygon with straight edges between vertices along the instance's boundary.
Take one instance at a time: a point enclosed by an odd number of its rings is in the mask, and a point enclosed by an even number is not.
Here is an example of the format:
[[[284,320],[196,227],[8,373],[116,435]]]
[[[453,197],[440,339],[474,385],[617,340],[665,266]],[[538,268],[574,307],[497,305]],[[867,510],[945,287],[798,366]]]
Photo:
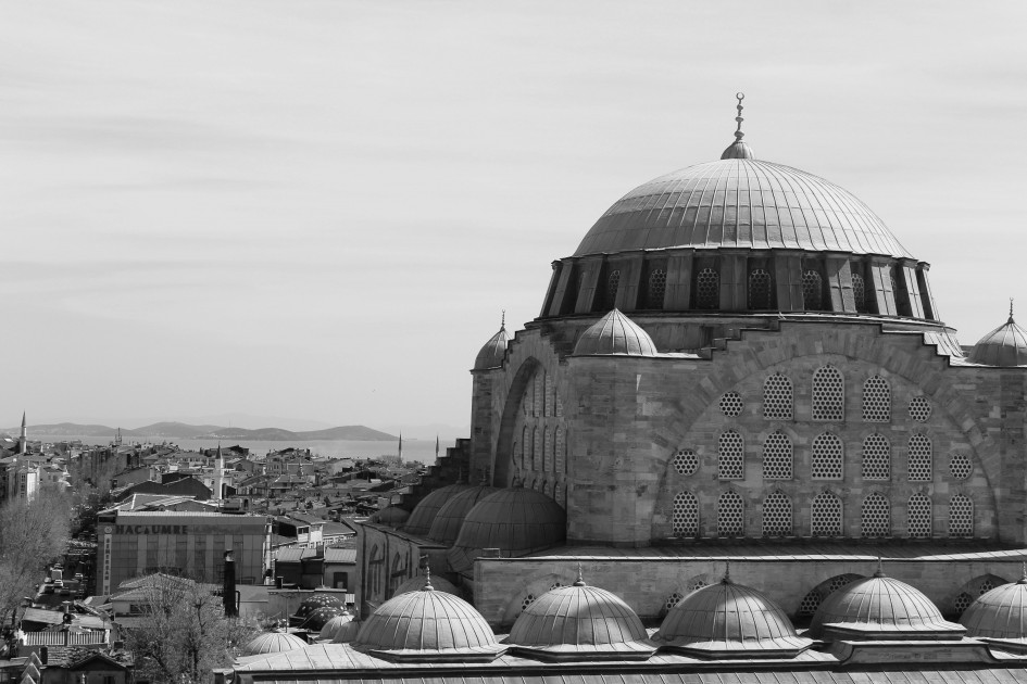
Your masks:
[[[212,681],[214,668],[231,666],[240,648],[256,636],[254,625],[226,618],[222,598],[210,585],[168,574],[145,579],[142,615],[125,630],[137,673],[156,684]]]

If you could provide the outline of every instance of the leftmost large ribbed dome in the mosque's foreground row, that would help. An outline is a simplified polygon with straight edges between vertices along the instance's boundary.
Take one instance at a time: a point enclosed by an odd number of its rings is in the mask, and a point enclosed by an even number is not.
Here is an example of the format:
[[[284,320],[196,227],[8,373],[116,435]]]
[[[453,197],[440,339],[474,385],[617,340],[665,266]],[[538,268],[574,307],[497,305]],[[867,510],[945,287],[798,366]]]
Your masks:
[[[354,648],[393,660],[492,660],[505,650],[485,618],[430,584],[393,596],[364,622]]]

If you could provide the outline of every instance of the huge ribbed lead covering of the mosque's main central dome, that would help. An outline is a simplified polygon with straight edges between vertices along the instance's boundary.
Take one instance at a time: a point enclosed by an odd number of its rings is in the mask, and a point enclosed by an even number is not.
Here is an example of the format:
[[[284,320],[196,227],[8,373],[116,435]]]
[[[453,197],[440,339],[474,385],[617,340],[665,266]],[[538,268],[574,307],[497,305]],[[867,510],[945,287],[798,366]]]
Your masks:
[[[697,164],[635,188],[596,221],[574,255],[674,246],[910,256],[842,188],[753,159]]]

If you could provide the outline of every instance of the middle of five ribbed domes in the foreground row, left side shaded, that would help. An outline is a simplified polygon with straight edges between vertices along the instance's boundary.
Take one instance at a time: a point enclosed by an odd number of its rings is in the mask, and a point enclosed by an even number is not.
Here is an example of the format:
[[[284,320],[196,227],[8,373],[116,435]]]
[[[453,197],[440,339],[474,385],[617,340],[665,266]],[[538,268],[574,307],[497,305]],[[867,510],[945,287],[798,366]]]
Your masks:
[[[711,658],[794,657],[813,645],[777,604],[727,577],[672,608],[653,641]]]

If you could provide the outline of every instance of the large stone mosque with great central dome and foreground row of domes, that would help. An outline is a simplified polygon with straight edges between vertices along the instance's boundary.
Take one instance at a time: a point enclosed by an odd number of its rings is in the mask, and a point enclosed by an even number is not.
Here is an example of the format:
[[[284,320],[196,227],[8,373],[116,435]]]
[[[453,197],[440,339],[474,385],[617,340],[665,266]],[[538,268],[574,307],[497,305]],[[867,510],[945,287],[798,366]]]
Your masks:
[[[962,346],[742,97],[481,347],[439,486],[361,530],[359,631],[233,677],[1027,681],[1027,333]]]

